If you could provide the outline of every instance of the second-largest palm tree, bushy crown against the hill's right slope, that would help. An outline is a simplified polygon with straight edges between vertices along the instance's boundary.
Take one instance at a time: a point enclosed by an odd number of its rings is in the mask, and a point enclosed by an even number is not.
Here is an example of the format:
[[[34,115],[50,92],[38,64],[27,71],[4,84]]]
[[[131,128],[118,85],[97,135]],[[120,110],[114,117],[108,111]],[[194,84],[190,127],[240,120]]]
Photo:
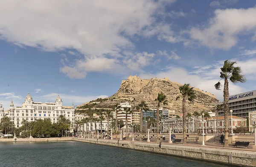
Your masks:
[[[194,87],[191,87],[188,84],[184,84],[183,86],[179,87],[180,89],[180,93],[181,93],[181,98],[182,98],[182,132],[183,132],[183,144],[186,144],[186,99],[188,99],[189,101],[194,101],[196,96],[195,96],[195,92],[194,92]],[[178,96],[177,98],[180,98],[180,96]]]

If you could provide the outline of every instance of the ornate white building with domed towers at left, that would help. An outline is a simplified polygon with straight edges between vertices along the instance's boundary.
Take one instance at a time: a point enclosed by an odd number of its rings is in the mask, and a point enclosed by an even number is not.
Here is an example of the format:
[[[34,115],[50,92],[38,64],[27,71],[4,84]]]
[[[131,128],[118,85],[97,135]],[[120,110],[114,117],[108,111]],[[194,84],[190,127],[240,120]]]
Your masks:
[[[20,127],[23,120],[35,121],[37,119],[50,118],[52,123],[57,123],[58,117],[64,115],[72,122],[72,127],[75,124],[75,107],[74,104],[71,108],[67,109],[62,106],[62,100],[60,96],[55,99],[55,103],[42,103],[33,101],[31,95],[26,96],[25,102],[22,107],[15,107],[13,101],[10,104],[9,117],[14,122],[16,127]]]

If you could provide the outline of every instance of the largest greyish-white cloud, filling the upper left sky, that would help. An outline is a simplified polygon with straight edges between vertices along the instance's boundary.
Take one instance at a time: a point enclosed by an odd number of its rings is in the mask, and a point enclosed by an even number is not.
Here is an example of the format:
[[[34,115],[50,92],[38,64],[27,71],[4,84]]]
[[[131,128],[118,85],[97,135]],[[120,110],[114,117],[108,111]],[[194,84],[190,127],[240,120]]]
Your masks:
[[[72,3],[69,0],[0,1],[0,39],[20,47],[31,46],[45,51],[77,50],[84,58],[67,63],[67,58],[64,57],[60,72],[70,78],[84,78],[90,71],[108,71],[111,66],[121,68],[122,60],[126,60],[121,52],[133,50],[134,44],[130,39],[134,35],[146,36],[146,29],[161,30],[154,30],[151,35],[157,35],[160,40],[177,42],[178,39],[172,39],[175,37],[172,37],[174,35],[170,25],[161,23],[160,27],[155,26],[159,23],[155,14],[165,11],[165,7],[174,2],[175,0],[76,0]],[[172,14],[184,16],[183,12]],[[71,50],[68,53],[76,54]],[[76,65],[80,67],[77,68]]]

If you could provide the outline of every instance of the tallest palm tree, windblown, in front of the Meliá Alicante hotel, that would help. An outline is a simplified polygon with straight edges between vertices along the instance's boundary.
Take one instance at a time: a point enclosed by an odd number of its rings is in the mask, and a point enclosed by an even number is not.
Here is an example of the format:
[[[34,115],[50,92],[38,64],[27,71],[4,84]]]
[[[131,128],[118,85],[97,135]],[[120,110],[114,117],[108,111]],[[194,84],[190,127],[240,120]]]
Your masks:
[[[224,108],[224,119],[225,119],[225,139],[224,139],[224,147],[228,147],[228,128],[229,128],[229,121],[228,121],[228,98],[229,98],[229,90],[228,90],[228,79],[232,83],[244,83],[246,82],[246,78],[242,74],[241,67],[234,66],[236,61],[225,60],[224,65],[221,67],[220,72],[220,80],[218,83],[215,84],[215,89],[220,90],[221,87],[221,80],[224,80],[224,89],[223,89],[223,108]]]

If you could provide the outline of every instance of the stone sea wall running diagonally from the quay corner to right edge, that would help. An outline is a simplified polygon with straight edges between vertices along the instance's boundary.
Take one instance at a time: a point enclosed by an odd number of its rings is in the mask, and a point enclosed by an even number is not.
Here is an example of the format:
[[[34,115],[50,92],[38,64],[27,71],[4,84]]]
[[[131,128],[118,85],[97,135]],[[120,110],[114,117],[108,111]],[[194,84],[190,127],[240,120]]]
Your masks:
[[[102,139],[74,138],[73,140],[238,166],[256,166],[256,153],[253,151],[225,150],[220,148],[192,147],[176,144],[159,145],[148,142],[110,141]]]

